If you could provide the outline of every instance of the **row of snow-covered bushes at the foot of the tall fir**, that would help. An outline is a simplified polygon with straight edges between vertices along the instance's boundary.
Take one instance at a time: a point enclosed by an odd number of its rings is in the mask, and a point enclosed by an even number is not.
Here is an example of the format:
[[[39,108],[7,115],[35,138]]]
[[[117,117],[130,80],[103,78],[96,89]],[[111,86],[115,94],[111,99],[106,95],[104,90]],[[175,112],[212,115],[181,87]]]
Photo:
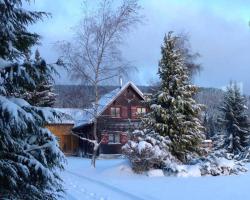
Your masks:
[[[187,177],[232,175],[247,171],[243,162],[223,151],[215,151],[206,157],[190,157],[189,162],[183,164],[169,152],[169,139],[153,131],[136,130],[131,139],[122,150],[136,173],[162,169],[166,176]]]

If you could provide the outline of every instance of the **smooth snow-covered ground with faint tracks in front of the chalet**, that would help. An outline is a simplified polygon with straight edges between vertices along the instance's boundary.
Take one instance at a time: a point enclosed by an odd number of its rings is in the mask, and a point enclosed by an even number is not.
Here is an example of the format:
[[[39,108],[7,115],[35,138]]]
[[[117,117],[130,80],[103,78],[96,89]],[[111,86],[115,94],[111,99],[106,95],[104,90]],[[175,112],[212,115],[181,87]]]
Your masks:
[[[62,178],[67,200],[249,200],[250,172],[220,177],[136,175],[125,159],[90,160],[68,157]],[[250,167],[250,166],[248,166]]]

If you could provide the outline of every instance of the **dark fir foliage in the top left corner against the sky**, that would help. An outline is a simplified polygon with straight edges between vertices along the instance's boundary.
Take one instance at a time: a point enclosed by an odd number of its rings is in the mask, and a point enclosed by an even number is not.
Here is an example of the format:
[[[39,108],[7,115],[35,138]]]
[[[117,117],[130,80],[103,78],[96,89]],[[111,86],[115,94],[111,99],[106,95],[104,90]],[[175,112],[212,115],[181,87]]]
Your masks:
[[[24,57],[40,38],[38,34],[29,32],[27,26],[48,15],[45,12],[24,10],[22,4],[22,0],[0,1],[0,55],[3,59]]]

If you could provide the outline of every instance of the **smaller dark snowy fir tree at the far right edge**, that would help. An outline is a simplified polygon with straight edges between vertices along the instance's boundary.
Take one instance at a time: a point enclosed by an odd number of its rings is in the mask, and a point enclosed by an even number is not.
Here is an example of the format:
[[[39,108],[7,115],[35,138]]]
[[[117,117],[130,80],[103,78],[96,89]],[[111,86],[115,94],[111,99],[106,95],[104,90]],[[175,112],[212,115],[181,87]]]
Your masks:
[[[238,155],[249,146],[250,132],[248,116],[246,114],[246,98],[241,95],[236,83],[230,83],[220,107],[219,118],[222,127],[216,137],[216,144],[227,153]]]

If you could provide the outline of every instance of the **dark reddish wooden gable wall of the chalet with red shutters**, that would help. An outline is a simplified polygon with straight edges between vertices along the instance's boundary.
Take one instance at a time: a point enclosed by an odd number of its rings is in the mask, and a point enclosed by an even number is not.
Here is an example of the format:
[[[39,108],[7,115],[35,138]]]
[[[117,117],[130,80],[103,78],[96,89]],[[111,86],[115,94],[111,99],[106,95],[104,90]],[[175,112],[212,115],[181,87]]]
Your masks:
[[[111,115],[111,108],[120,108],[120,116],[114,117]],[[127,133],[139,128],[140,119],[137,115],[137,108],[145,108],[143,98],[129,86],[126,88],[114,102],[112,102],[107,109],[98,118],[98,136],[100,139],[104,138],[100,153],[119,154],[121,147],[127,142]],[[110,134],[117,137],[113,142],[110,141]],[[112,140],[112,136],[111,136]]]

